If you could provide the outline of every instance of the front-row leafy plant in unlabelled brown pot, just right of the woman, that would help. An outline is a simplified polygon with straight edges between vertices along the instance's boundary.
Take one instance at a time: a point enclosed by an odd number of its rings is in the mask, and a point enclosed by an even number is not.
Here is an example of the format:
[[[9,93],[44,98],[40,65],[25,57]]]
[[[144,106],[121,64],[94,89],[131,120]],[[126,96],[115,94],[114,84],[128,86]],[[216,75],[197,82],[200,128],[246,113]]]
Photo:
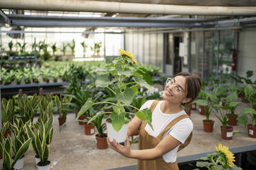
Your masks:
[[[213,132],[214,121],[209,119],[211,112],[213,111],[213,104],[218,101],[217,96],[214,93],[206,93],[204,90],[200,90],[201,99],[196,99],[194,103],[202,106],[206,119],[203,120],[204,132]],[[203,99],[204,98],[204,99]],[[211,101],[210,101],[211,100]]]

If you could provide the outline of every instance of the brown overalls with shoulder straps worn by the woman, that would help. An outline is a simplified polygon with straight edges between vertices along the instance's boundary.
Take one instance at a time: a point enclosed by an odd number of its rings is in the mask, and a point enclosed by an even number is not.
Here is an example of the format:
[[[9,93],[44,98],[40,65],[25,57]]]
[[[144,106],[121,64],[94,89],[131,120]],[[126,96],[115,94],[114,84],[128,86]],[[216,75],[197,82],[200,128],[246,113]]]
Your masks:
[[[156,105],[158,104],[158,101],[153,101],[153,104],[150,107],[151,112],[156,108]],[[180,121],[181,119],[188,118],[187,115],[181,115],[180,117],[175,118],[173,121],[171,121],[165,128],[160,132],[160,134],[155,138],[153,136],[150,136],[145,131],[145,126],[147,125],[147,121],[143,121],[142,125],[140,125],[140,140],[138,144],[138,149],[151,149],[156,147],[160,141],[162,141],[162,138],[164,138],[164,134],[169,130],[175,123]],[[179,149],[184,148],[186,145],[188,145],[191,141],[192,133],[190,136],[186,139],[185,143],[180,145]],[[162,159],[162,156],[159,158],[156,158],[155,160],[138,160],[138,170],[178,170],[178,164],[177,162],[164,162]]]

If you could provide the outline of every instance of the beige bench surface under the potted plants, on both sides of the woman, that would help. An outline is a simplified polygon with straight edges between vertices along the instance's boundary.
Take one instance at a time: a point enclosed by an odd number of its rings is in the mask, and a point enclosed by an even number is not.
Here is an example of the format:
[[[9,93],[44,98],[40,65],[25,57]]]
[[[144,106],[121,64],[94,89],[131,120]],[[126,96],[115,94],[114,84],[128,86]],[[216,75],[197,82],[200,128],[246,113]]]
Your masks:
[[[245,104],[242,106],[245,106]],[[238,110],[240,110],[242,106]],[[137,160],[125,158],[112,149],[96,149],[95,136],[87,136],[84,134],[84,127],[78,125],[78,122],[72,121],[74,120],[74,114],[67,115],[67,121],[70,122],[67,123],[60,133],[58,130],[57,117],[58,115],[54,116],[54,137],[49,158],[53,170],[100,170],[137,164]],[[210,119],[215,121],[215,129],[212,133],[204,132],[202,120],[205,119],[205,117],[200,115],[198,110],[192,110],[191,119],[194,124],[192,142],[186,149],[180,151],[178,156],[214,151],[217,143],[222,143],[228,147],[238,147],[256,143],[255,138],[249,138],[247,136],[247,129],[241,124],[234,127],[235,132],[241,133],[233,136],[232,141],[225,141],[220,136],[220,121],[213,114],[210,116]],[[138,144],[135,143],[131,147],[132,149],[137,149]],[[36,169],[32,148],[25,154],[25,167],[23,167],[23,169]]]

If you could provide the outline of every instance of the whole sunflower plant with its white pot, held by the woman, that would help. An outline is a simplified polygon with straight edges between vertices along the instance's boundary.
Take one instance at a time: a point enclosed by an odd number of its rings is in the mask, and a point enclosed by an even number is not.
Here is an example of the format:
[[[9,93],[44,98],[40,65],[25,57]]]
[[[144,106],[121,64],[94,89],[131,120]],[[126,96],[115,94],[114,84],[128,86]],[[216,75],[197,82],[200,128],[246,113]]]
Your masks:
[[[138,68],[135,66],[136,60],[134,59],[133,53],[119,50],[120,57],[116,58],[111,64],[105,66],[102,69],[96,69],[100,75],[96,79],[95,86],[100,88],[108,88],[114,93],[116,102],[111,101],[100,101],[94,102],[92,99],[87,99],[81,110],[78,112],[78,117],[84,114],[89,108],[98,104],[109,104],[112,106],[113,111],[110,112],[110,118],[105,119],[107,123],[107,136],[110,141],[116,139],[117,143],[122,143],[126,139],[127,128],[129,119],[127,114],[135,114],[138,118],[143,121],[147,121],[151,125],[151,111],[149,109],[139,110],[134,106],[131,106],[131,102],[134,96],[138,93],[138,86],[148,88],[153,91],[153,87],[147,84],[143,80],[142,76],[138,73]],[[124,82],[125,79],[133,77],[133,82]],[[114,89],[111,89],[109,85],[112,84]],[[135,108],[137,112],[126,112],[125,107]],[[92,122],[96,117],[108,112],[102,112],[96,114],[95,117],[89,120],[88,123]]]

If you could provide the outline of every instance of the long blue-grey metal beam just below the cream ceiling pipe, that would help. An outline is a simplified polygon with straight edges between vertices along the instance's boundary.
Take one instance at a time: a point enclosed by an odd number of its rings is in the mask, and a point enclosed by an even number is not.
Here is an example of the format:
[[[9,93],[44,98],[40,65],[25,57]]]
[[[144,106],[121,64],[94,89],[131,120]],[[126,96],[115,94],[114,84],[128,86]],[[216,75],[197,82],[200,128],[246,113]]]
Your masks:
[[[217,19],[159,19],[134,17],[32,16],[11,14],[12,24],[24,27],[213,27]]]

